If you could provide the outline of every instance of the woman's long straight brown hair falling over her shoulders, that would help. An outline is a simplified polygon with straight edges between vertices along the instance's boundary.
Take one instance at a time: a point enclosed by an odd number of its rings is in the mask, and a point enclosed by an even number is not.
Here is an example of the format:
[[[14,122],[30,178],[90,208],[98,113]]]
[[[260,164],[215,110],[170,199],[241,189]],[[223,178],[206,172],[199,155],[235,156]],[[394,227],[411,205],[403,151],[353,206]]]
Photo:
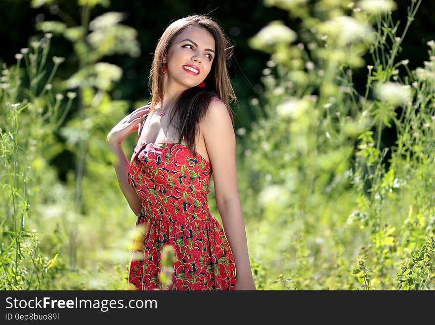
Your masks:
[[[205,116],[206,110],[213,97],[220,98],[229,108],[229,101],[235,102],[236,95],[228,75],[227,60],[233,54],[233,46],[223,34],[216,21],[206,15],[189,15],[171,23],[157,43],[154,58],[151,63],[151,71],[148,79],[150,88],[151,107],[150,114],[159,102],[163,102],[163,55],[169,50],[174,39],[188,26],[201,27],[209,31],[215,39],[215,58],[210,73],[204,80],[205,87],[191,87],[182,92],[176,99],[171,118],[176,118],[176,129],[179,131],[178,142],[184,137],[190,152],[196,154],[195,137],[199,134],[197,124],[201,116]],[[229,111],[231,111],[229,109]],[[232,113],[231,123],[234,127]],[[192,150],[193,149],[193,150]]]

